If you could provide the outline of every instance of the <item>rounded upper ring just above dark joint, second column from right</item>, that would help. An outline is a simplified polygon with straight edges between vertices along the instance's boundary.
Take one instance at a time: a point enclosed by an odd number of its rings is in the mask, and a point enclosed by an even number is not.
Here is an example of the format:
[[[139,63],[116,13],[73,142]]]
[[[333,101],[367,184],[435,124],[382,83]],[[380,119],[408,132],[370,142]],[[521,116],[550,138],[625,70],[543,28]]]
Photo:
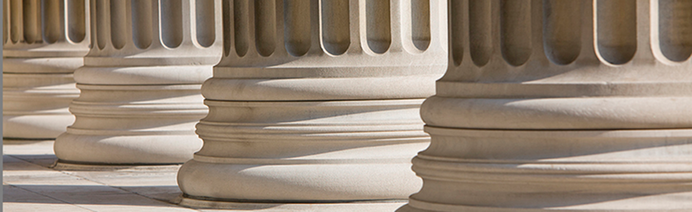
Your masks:
[[[202,94],[213,100],[260,102],[420,99],[435,94],[432,82],[437,78],[439,75],[298,79],[215,76],[204,82]]]

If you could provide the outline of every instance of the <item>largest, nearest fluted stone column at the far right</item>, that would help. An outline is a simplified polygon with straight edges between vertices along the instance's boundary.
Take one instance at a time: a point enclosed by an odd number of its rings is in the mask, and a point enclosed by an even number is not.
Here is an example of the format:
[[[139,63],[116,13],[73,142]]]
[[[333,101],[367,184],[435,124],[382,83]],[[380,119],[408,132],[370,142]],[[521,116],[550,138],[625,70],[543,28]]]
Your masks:
[[[399,211],[692,211],[692,1],[448,2]]]

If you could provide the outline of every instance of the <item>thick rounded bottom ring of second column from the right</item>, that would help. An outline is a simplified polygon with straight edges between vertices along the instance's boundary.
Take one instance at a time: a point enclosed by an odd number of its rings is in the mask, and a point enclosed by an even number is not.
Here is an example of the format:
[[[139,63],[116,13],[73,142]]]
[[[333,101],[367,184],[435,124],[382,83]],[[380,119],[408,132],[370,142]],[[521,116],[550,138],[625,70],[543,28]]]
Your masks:
[[[385,159],[328,161],[331,163],[231,164],[195,159],[181,166],[178,184],[188,195],[260,202],[404,200],[421,186],[420,178],[410,171],[408,158],[397,160],[399,163]],[[327,176],[329,180],[323,180]]]

